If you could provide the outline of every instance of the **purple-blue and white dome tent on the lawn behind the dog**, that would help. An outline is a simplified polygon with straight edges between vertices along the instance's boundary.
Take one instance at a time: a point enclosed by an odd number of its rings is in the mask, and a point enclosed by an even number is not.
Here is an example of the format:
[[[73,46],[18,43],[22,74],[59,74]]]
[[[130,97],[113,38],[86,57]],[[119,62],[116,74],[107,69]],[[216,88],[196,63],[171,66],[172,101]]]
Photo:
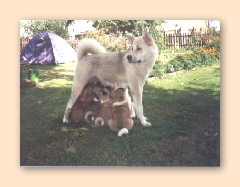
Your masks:
[[[76,60],[74,49],[63,38],[50,32],[34,36],[20,55],[20,64],[59,64]]]

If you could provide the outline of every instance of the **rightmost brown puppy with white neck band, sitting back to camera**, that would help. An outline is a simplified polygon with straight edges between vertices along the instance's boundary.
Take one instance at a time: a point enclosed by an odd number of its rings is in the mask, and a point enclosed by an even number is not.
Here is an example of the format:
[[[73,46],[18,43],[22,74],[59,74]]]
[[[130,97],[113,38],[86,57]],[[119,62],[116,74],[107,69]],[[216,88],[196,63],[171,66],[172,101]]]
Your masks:
[[[108,121],[108,125],[112,131],[118,132],[118,136],[127,134],[133,126],[133,120],[130,117],[131,110],[126,96],[126,92],[122,88],[113,92],[112,119]]]

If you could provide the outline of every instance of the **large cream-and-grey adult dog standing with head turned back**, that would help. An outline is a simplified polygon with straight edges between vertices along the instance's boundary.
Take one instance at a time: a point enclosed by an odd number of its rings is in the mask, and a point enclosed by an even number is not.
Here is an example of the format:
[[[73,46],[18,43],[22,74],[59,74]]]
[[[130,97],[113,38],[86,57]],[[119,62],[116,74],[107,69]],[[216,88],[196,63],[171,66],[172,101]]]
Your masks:
[[[151,125],[143,115],[142,92],[145,80],[157,59],[158,48],[147,32],[136,38],[127,36],[127,39],[132,49],[120,53],[107,53],[104,47],[93,39],[83,39],[79,43],[78,63],[66,111],[72,108],[88,80],[96,76],[102,84],[129,87],[138,119],[143,126]],[[63,122],[68,122],[65,115]]]

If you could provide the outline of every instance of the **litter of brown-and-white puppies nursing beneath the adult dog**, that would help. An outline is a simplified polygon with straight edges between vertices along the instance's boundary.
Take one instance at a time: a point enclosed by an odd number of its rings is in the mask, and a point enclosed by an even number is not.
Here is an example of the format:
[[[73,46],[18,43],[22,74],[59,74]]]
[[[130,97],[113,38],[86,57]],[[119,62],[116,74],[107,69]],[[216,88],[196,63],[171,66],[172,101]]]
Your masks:
[[[118,136],[128,134],[135,117],[133,103],[128,89],[102,85],[97,77],[92,77],[84,86],[72,108],[66,112],[70,123],[89,123],[108,126]]]

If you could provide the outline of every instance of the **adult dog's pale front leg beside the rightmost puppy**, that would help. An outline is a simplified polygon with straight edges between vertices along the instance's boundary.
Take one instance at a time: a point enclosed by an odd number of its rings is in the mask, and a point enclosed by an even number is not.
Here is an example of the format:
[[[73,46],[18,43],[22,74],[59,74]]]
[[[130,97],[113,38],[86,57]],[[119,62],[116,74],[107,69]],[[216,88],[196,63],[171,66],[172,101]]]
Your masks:
[[[133,95],[133,102],[134,102],[134,108],[135,112],[137,114],[138,119],[140,120],[142,126],[151,126],[151,123],[146,121],[146,118],[143,115],[143,105],[142,105],[142,91],[143,88],[140,86],[136,87],[130,87],[130,90]]]

